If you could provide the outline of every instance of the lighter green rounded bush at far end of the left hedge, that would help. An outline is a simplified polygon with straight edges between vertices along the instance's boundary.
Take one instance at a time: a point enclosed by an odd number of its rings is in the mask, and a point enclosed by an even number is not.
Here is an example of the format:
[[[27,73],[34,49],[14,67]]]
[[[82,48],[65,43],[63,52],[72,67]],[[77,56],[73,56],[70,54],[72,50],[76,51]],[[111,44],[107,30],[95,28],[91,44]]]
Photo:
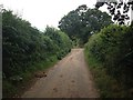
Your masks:
[[[53,51],[57,50],[55,53],[59,60],[61,60],[68,52],[71,51],[72,41],[64,32],[47,27],[44,36],[49,37],[55,43],[55,49],[53,49]]]

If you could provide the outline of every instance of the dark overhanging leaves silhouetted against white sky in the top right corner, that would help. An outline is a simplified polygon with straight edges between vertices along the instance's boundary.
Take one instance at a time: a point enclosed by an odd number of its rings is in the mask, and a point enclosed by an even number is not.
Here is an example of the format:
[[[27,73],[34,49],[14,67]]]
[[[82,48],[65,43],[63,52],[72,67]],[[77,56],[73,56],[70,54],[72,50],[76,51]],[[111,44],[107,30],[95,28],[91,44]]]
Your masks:
[[[119,24],[130,23],[131,17],[129,17],[129,13],[133,11],[133,0],[98,0],[95,8],[99,9],[104,4],[108,6],[108,10],[114,22]]]

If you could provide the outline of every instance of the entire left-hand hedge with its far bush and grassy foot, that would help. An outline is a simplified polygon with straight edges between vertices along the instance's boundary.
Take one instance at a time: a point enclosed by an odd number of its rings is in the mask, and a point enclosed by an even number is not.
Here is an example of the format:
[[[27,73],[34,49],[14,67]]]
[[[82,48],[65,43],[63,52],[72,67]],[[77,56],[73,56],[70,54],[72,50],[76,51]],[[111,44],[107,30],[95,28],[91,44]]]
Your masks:
[[[12,11],[2,11],[2,93],[12,97],[19,87],[71,51],[72,41],[60,30],[44,32]]]

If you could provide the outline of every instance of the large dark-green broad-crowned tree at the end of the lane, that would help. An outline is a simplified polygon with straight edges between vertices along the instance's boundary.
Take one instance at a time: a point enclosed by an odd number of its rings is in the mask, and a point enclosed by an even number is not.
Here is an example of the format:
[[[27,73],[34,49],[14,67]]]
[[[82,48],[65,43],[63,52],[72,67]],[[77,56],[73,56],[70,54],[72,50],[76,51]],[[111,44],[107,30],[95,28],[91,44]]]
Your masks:
[[[111,17],[96,9],[88,9],[85,4],[70,11],[60,22],[59,28],[73,38],[80,39],[80,43],[88,42],[89,37],[95,31],[112,23]]]

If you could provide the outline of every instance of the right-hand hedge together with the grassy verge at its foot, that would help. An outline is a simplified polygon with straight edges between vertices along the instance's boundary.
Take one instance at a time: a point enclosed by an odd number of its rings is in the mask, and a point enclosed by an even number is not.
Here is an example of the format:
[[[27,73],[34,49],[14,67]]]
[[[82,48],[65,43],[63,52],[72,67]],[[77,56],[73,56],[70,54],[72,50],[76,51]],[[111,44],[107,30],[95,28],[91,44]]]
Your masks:
[[[133,97],[133,23],[102,29],[84,52],[101,97]]]

